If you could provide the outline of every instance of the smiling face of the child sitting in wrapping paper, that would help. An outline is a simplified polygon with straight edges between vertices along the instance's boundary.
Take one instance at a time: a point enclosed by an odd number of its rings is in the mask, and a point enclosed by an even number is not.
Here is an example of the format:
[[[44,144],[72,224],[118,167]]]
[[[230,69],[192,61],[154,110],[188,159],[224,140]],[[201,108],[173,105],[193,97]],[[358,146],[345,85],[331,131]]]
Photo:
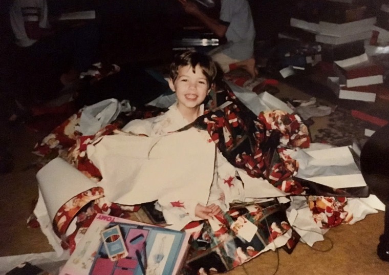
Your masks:
[[[208,80],[199,65],[196,66],[195,72],[190,65],[180,66],[176,80],[169,79],[169,86],[176,92],[178,109],[181,112],[198,109],[210,91]]]

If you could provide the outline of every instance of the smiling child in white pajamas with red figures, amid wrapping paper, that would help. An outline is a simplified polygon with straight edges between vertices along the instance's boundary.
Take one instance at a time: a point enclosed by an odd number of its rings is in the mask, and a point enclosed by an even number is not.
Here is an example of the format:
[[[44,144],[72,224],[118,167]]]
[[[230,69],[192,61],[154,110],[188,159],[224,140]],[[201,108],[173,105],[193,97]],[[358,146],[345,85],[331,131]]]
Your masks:
[[[203,101],[212,89],[216,74],[214,61],[205,54],[185,52],[176,56],[170,66],[168,83],[171,90],[176,93],[177,101],[166,113],[156,118],[133,120],[124,126],[122,131],[147,136],[166,135],[195,121],[203,115]],[[205,140],[209,140],[209,134],[203,132]],[[196,205],[196,217],[210,219],[222,210],[227,210],[228,203],[233,199],[242,199],[243,184],[236,179],[235,173],[235,167],[217,150],[208,204]],[[163,206],[160,210],[163,210]]]

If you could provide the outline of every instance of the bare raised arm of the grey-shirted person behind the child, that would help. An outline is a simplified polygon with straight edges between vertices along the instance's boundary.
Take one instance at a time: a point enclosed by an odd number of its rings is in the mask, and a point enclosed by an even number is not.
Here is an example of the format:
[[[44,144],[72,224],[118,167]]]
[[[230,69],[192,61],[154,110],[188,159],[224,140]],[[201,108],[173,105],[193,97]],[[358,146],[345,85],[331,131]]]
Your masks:
[[[210,29],[215,35],[222,38],[227,32],[228,26],[220,23],[218,19],[209,17],[202,12],[195,3],[188,0],[178,0],[182,4],[184,11],[197,17],[208,29]]]

